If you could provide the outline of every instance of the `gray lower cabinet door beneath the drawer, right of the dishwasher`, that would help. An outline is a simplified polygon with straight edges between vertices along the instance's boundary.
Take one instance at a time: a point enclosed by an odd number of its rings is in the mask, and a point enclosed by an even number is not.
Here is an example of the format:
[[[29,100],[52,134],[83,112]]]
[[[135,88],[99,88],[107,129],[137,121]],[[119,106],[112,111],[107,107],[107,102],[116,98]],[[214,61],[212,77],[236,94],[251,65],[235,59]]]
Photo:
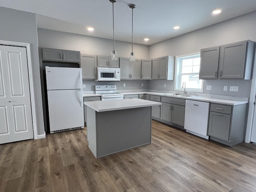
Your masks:
[[[229,140],[231,115],[210,111],[208,135],[219,139]]]

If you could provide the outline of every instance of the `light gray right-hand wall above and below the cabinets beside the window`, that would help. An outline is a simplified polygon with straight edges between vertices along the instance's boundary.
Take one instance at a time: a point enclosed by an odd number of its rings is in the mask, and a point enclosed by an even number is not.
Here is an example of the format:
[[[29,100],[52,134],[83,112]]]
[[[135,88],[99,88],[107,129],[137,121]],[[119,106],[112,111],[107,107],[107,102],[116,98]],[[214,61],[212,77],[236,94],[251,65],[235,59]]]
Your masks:
[[[200,49],[219,46],[243,40],[256,41],[256,11],[239,16],[176,38],[172,38],[149,47],[151,58],[172,55],[180,56],[200,52]],[[182,29],[182,28],[181,28]],[[227,96],[249,97],[251,80],[204,80],[204,93]],[[165,90],[174,90],[174,81],[166,81]],[[162,81],[150,82],[150,89],[163,90]],[[212,90],[206,90],[212,85]],[[223,91],[223,86],[239,86],[238,92]]]

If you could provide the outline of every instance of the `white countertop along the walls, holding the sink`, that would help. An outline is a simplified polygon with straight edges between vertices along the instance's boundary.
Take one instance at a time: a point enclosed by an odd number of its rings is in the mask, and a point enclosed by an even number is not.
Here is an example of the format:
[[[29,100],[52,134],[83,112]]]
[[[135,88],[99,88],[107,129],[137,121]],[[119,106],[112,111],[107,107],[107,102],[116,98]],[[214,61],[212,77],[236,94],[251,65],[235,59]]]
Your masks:
[[[118,91],[120,92],[120,91]],[[180,99],[188,99],[188,100],[195,100],[195,101],[203,101],[203,102],[212,102],[218,104],[226,104],[226,105],[240,105],[248,103],[248,98],[236,98],[236,97],[229,97],[229,96],[190,96],[190,97],[181,97],[181,96],[174,96],[172,93],[163,93],[163,92],[148,92],[148,91],[132,91],[132,92],[120,92],[124,95],[130,94],[150,94],[150,95],[158,95],[158,96],[165,96],[165,97],[172,97],[172,98],[180,98]],[[188,94],[189,95],[189,94]],[[87,93],[83,94],[84,97],[90,96],[101,96],[100,94],[95,93]]]

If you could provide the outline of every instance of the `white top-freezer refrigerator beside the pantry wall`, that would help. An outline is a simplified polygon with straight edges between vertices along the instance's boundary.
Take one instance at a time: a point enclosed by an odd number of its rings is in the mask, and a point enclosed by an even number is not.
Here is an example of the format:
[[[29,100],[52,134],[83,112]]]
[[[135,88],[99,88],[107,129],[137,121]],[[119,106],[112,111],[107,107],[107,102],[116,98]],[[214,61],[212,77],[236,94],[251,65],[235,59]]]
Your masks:
[[[82,69],[45,67],[50,133],[84,127]]]

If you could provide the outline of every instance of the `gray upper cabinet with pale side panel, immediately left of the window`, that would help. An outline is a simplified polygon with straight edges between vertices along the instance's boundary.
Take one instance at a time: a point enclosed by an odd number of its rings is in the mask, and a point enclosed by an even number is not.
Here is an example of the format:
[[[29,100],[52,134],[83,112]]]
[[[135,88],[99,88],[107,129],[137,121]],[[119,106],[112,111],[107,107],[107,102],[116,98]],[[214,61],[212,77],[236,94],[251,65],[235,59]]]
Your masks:
[[[152,79],[174,80],[174,57],[152,59]]]

